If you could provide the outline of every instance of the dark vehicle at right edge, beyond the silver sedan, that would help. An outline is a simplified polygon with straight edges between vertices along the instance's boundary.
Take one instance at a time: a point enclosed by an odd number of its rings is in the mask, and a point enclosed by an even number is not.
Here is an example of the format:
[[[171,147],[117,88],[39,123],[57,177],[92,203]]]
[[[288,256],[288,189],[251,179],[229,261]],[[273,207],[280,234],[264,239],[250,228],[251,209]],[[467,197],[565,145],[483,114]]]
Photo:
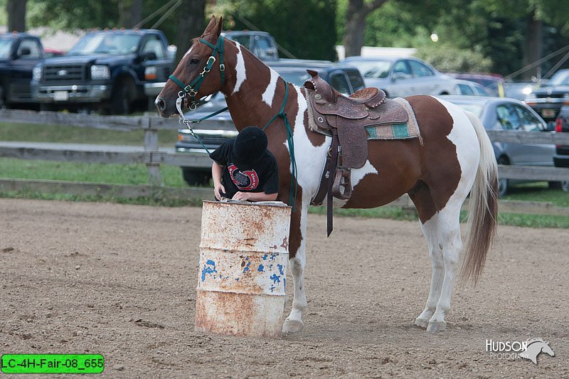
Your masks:
[[[531,91],[524,101],[553,126],[561,107],[569,105],[569,69],[558,70],[543,87]]]

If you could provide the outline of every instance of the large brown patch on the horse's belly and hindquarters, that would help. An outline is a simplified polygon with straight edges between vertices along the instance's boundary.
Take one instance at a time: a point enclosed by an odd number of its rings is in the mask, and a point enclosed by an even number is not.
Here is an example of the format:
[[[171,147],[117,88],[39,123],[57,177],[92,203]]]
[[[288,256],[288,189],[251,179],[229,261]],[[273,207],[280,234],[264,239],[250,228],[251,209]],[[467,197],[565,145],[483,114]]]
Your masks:
[[[425,223],[456,190],[462,170],[456,146],[447,138],[452,117],[435,98],[406,99],[415,111],[424,146],[418,139],[369,141],[368,160],[378,174],[364,176],[342,208],[378,207],[410,193]]]

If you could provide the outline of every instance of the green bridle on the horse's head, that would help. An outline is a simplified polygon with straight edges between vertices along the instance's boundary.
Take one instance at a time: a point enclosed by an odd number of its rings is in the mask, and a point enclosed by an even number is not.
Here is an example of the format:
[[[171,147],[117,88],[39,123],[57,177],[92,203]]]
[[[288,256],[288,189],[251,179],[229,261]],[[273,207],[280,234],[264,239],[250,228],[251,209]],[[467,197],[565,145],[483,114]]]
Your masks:
[[[198,90],[201,86],[201,83],[203,82],[203,79],[205,79],[206,75],[211,71],[213,63],[216,63],[216,55],[218,53],[219,53],[219,71],[221,74],[221,85],[223,86],[225,84],[225,65],[223,64],[223,36],[218,37],[216,45],[209,43],[203,38],[200,38],[198,41],[213,49],[213,52],[208,58],[208,62],[206,63],[206,67],[203,68],[203,71],[196,77],[196,79],[192,80],[188,85],[184,85],[184,82],[176,78],[174,74],[168,77],[177,85],[179,85],[182,89],[180,92],[178,92],[178,99],[176,100],[176,109],[178,110],[180,115],[183,114],[182,102],[184,103],[184,107],[189,108],[189,110],[196,110],[196,108],[198,107],[198,102],[196,102],[196,95],[198,94]],[[190,97],[189,105],[188,105],[188,96]]]

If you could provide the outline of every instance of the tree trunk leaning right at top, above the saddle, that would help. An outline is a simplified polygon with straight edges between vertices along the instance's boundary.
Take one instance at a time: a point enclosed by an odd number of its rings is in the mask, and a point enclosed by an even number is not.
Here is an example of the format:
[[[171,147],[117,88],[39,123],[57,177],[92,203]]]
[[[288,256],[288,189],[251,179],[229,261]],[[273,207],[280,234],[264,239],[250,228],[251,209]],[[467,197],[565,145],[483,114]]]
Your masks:
[[[375,0],[365,4],[363,0],[349,0],[348,12],[346,13],[346,31],[344,31],[344,52],[346,57],[361,55],[363,35],[366,31],[366,17],[371,11],[375,11],[387,0]]]

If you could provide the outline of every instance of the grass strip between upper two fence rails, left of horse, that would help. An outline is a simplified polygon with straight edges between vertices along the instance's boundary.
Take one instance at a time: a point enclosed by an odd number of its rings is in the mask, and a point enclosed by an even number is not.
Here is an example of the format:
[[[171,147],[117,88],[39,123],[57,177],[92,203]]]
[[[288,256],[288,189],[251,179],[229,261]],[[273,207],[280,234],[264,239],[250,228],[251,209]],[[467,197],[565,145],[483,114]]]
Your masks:
[[[158,131],[159,146],[174,147],[178,131]],[[61,144],[110,144],[144,146],[144,130],[119,130],[70,127],[64,125],[0,123],[0,141],[58,142]]]

